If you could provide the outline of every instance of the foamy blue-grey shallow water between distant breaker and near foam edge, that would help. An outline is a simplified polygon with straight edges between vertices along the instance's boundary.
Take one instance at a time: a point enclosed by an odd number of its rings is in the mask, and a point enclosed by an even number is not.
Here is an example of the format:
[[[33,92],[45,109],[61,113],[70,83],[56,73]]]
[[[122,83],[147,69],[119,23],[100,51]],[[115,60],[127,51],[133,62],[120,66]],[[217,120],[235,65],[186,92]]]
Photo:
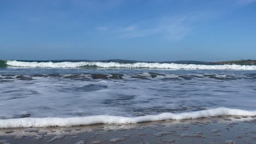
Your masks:
[[[0,68],[0,118],[256,110],[255,70]]]

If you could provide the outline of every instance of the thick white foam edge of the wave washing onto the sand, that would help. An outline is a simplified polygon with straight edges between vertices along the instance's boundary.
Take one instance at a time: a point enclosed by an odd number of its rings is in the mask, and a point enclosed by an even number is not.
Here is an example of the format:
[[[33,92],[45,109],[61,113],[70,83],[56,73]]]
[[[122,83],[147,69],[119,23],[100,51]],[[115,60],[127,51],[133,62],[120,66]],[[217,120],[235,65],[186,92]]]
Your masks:
[[[202,111],[184,112],[184,113],[161,113],[160,115],[148,115],[140,117],[121,117],[121,116],[86,116],[69,118],[14,118],[1,119],[0,128],[28,128],[28,127],[71,127],[75,125],[91,124],[129,124],[141,122],[164,121],[167,119],[196,119],[201,117],[214,116],[255,116],[256,111],[246,111],[240,109],[228,109],[219,107]]]

